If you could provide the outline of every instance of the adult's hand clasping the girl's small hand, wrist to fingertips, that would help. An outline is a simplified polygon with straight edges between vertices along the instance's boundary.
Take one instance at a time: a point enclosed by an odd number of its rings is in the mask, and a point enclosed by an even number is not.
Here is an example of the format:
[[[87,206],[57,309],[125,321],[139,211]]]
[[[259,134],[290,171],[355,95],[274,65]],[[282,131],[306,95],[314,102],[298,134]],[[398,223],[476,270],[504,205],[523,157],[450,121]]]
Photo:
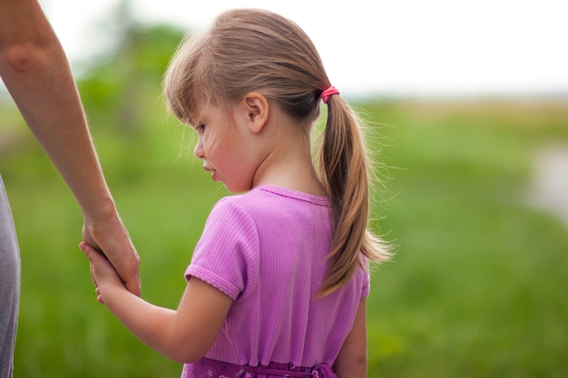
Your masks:
[[[83,240],[106,256],[124,286],[132,294],[140,296],[140,257],[116,212],[102,219],[84,218]]]

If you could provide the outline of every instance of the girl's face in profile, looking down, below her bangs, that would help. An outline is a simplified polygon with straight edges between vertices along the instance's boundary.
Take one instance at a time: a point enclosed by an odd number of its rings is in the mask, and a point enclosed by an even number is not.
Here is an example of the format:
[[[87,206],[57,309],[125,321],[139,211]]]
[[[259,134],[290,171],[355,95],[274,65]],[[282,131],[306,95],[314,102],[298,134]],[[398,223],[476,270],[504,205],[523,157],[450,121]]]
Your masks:
[[[236,111],[227,114],[208,104],[194,126],[198,133],[195,156],[203,160],[203,169],[211,172],[214,181],[233,193],[252,189],[260,165],[259,154],[250,142],[251,132],[243,121]]]

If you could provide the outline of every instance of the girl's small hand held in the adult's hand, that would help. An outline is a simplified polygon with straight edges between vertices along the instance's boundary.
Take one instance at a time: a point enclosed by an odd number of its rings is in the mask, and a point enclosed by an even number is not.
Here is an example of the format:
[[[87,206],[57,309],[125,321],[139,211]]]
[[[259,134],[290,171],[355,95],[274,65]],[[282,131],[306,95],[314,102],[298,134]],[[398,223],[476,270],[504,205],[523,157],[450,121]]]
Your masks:
[[[79,247],[91,263],[91,275],[96,288],[97,301],[104,304],[104,296],[113,287],[125,288],[121,277],[110,261],[98,253],[93,247],[82,241]]]

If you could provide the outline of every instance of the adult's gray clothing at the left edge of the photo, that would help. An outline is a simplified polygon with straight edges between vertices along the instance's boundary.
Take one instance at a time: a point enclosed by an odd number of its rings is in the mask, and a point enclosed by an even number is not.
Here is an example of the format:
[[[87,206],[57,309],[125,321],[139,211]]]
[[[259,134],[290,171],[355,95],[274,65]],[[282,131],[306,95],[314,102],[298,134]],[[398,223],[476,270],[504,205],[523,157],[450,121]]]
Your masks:
[[[14,371],[19,301],[20,254],[14,220],[0,176],[0,378],[11,378]]]

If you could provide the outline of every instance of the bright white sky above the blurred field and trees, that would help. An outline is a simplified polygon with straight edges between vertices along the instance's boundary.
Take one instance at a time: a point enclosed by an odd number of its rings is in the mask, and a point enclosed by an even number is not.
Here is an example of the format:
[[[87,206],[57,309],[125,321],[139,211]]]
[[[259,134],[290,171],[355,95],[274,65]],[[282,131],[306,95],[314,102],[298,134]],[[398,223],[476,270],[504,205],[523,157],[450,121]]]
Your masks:
[[[95,25],[119,0],[42,0],[72,63],[105,41]],[[131,0],[136,15],[206,27],[234,7],[288,16],[350,94],[568,93],[567,0]],[[99,47],[97,47],[99,46]]]

